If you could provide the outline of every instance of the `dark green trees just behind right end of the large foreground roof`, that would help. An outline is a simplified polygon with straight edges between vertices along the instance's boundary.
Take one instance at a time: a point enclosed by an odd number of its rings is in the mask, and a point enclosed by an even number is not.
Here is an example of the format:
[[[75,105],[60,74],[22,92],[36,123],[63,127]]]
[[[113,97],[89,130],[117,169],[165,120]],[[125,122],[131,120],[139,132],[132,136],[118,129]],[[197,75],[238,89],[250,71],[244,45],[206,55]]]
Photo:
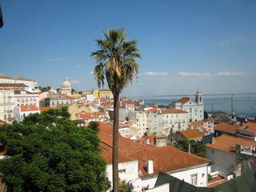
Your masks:
[[[174,142],[174,146],[179,150],[183,150],[185,152],[189,151],[189,141],[186,139],[179,140],[178,142]],[[190,141],[190,153],[197,154],[198,156],[204,157],[204,153],[206,151],[206,146],[201,142],[195,142],[194,140]]]

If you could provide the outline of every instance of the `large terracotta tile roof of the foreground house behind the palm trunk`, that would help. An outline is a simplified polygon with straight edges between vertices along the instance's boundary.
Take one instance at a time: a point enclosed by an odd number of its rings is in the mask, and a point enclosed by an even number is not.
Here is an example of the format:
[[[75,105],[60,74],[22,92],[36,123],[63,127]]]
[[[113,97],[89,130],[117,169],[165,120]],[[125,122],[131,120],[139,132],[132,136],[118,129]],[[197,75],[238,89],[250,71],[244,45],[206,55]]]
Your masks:
[[[102,157],[107,164],[112,163],[112,127],[99,122],[101,139]],[[131,141],[128,138],[118,138],[119,162],[138,161],[140,177],[146,177],[146,162],[154,162],[154,174],[159,171],[168,172],[180,170],[190,166],[198,166],[210,162],[206,158],[200,158],[193,154],[187,154],[172,146],[154,147]],[[153,174],[153,175],[154,175]]]

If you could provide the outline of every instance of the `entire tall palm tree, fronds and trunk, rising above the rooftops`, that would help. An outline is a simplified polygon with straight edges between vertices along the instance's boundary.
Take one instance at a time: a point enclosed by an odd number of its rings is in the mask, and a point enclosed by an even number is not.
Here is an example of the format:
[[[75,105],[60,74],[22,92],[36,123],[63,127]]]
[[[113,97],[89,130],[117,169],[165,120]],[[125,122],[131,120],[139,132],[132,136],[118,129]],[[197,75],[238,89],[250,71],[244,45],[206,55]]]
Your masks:
[[[138,74],[138,63],[135,58],[141,58],[137,49],[137,41],[125,41],[126,32],[123,29],[110,29],[104,32],[104,39],[95,39],[99,50],[92,52],[97,65],[94,75],[98,87],[108,83],[114,95],[114,128],[113,128],[113,191],[118,191],[118,124],[119,95]]]

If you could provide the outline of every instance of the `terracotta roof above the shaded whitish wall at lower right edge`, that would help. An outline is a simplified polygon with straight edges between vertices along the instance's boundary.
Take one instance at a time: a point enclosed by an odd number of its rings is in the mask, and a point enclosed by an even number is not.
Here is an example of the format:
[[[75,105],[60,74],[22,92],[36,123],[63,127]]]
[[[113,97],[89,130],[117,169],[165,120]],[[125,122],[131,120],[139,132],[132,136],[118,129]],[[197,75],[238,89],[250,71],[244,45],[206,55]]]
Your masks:
[[[256,147],[256,142],[251,141],[249,139],[237,138],[227,134],[222,134],[221,136],[216,138],[214,144],[207,143],[206,147],[210,147],[215,150],[222,150],[229,153],[234,153],[234,147],[236,145]]]

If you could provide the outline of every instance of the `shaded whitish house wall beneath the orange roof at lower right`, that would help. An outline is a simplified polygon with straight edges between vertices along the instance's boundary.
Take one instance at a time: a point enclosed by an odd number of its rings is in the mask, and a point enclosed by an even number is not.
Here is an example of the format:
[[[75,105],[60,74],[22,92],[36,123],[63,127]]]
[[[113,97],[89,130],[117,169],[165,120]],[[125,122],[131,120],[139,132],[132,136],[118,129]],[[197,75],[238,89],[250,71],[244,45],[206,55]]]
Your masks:
[[[206,158],[212,160],[214,165],[224,168],[223,170],[226,170],[225,172],[232,172],[237,166],[234,153],[228,153],[222,150],[215,150],[207,146]]]

